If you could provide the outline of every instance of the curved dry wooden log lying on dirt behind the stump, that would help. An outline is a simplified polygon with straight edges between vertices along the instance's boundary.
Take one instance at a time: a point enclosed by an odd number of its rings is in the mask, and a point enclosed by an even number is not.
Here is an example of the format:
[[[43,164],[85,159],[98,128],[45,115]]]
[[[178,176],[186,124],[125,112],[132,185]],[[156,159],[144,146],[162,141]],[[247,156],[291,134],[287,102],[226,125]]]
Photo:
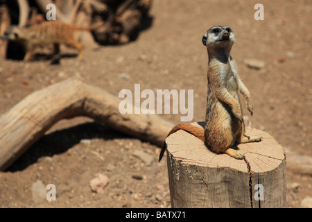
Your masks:
[[[0,117],[0,170],[4,170],[60,119],[86,116],[161,146],[173,127],[155,114],[120,114],[120,99],[69,78],[26,96]]]

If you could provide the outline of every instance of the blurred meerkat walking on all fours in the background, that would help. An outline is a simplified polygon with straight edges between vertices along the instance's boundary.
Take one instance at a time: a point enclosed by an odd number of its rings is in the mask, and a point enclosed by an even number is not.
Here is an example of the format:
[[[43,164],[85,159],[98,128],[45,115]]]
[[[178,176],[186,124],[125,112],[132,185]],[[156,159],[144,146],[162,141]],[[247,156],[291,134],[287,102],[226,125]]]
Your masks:
[[[77,49],[78,58],[83,58],[83,46],[75,37],[76,31],[93,31],[102,25],[103,23],[93,27],[82,27],[65,24],[57,20],[46,21],[23,28],[11,26],[1,37],[4,40],[20,42],[24,46],[26,50],[25,62],[31,60],[37,47],[46,46],[47,44],[53,44],[54,53],[60,52],[60,44]]]

